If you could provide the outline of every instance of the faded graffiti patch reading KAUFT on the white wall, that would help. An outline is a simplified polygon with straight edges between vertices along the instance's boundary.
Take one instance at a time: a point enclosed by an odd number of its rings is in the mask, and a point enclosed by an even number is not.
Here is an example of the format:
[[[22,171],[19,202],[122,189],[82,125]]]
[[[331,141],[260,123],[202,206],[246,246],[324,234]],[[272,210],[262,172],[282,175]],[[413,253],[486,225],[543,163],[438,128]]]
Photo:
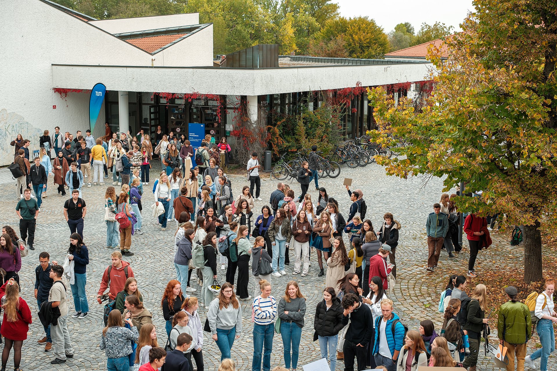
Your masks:
[[[18,134],[21,134],[23,139],[31,141],[30,149],[38,149],[42,132],[43,130],[31,125],[18,113],[0,109],[0,165],[12,163],[14,147],[10,143]]]

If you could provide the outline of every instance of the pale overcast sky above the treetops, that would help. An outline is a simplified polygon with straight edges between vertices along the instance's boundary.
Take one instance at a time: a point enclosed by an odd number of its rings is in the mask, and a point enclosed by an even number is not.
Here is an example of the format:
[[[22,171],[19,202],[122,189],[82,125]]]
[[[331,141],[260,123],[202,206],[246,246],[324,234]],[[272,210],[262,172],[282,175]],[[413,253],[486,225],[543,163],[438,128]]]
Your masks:
[[[385,32],[390,32],[398,23],[410,22],[418,32],[421,24],[436,21],[460,31],[460,23],[468,11],[473,11],[472,0],[336,0],[343,17],[368,16]]]

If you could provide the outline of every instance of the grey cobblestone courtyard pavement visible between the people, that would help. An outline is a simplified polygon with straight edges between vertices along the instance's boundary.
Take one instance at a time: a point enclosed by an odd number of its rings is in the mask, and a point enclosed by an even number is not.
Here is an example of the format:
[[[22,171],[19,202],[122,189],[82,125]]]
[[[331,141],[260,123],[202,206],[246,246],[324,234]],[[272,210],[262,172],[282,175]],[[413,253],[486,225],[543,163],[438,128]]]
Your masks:
[[[158,161],[154,161],[157,164]],[[157,174],[158,170],[153,169],[151,174]],[[110,173],[109,173],[110,174]],[[424,178],[413,178],[401,180],[393,176],[385,176],[382,167],[376,164],[365,168],[348,169],[343,168],[343,172],[337,179],[321,179],[320,186],[324,186],[330,196],[339,200],[341,212],[347,214],[350,200],[343,186],[343,177],[353,179],[353,189],[360,188],[364,191],[364,198],[368,205],[367,216],[372,220],[376,229],[379,228],[384,212],[390,211],[394,214],[400,224],[399,247],[397,249],[397,268],[398,281],[395,288],[394,310],[411,329],[417,329],[419,320],[431,318],[436,321],[436,328],[441,327],[441,314],[437,313],[437,303],[442,286],[446,282],[448,275],[457,271],[466,271],[465,263],[467,255],[461,254],[455,259],[448,260],[446,252],[442,252],[439,261],[439,269],[434,274],[426,274],[423,269],[427,259],[427,245],[425,242],[424,224],[426,216],[431,212],[432,204],[439,200],[442,182],[440,179],[430,179],[427,184],[423,184]],[[111,176],[108,180],[111,180]],[[153,184],[153,176],[151,185]],[[237,195],[241,187],[246,183],[245,177],[232,176],[234,195]],[[85,222],[84,237],[85,243],[89,248],[90,264],[87,267],[87,296],[89,297],[90,313],[82,320],[69,318],[69,330],[73,342],[75,343],[76,354],[74,359],[69,359],[61,367],[53,367],[48,362],[52,360],[52,352],[43,352],[43,347],[36,342],[43,337],[43,330],[37,318],[36,301],[33,298],[33,283],[35,275],[33,269],[38,264],[38,254],[41,251],[48,251],[51,259],[62,261],[69,245],[69,229],[63,222],[62,207],[63,199],[57,195],[56,188],[52,186],[52,179],[48,185],[48,197],[43,199],[42,212],[38,216],[36,231],[36,250],[23,258],[22,269],[20,271],[22,283],[22,297],[30,304],[33,313],[33,324],[26,342],[23,344],[23,357],[21,367],[23,369],[72,369],[72,370],[95,370],[106,369],[106,357],[104,352],[99,349],[100,334],[102,329],[102,306],[95,301],[95,295],[99,288],[102,272],[110,264],[110,253],[105,247],[106,226],[104,217],[104,191],[105,187],[92,186],[85,187],[83,198],[87,203],[87,218]],[[14,212],[17,199],[15,197],[14,181],[7,169],[0,170],[0,210],[4,215],[4,222],[10,224],[18,231],[17,216]],[[267,204],[271,192],[276,188],[276,180],[268,178],[262,179],[261,198],[263,202],[256,203],[256,214],[261,210],[261,206]],[[300,192],[300,186],[295,182],[290,184],[296,191]],[[143,293],[146,308],[153,312],[153,322],[157,325],[159,335],[159,345],[164,347],[167,337],[164,331],[164,319],[160,308],[160,298],[168,280],[175,278],[173,268],[173,222],[169,222],[166,231],[160,231],[159,227],[150,218],[150,205],[152,205],[151,186],[145,186],[144,194],[144,235],[133,236],[131,251],[135,255],[124,257],[133,267],[136,278],[138,278],[139,289]],[[310,194],[316,200],[317,191],[310,185]],[[255,220],[255,218],[254,218]],[[466,244],[465,244],[466,245]],[[481,253],[478,258],[478,272],[481,274],[483,264],[488,260],[494,259],[491,254],[496,254],[497,249],[490,249],[486,253]],[[483,256],[487,254],[487,256]],[[294,255],[291,252],[291,256]],[[520,256],[520,254],[517,254]],[[310,274],[301,277],[292,276],[292,265],[286,267],[287,273],[282,278],[272,279],[273,292],[278,299],[284,295],[285,284],[291,279],[296,279],[300,283],[302,293],[307,298],[306,325],[302,331],[302,341],[300,344],[301,365],[312,362],[320,358],[319,344],[312,342],[313,337],[313,318],[315,306],[321,300],[321,293],[325,285],[325,277],[317,277],[319,267],[317,266],[316,254],[311,255],[312,265]],[[224,271],[218,270],[219,281],[224,281]],[[196,279],[192,278],[192,283]],[[255,289],[255,279],[250,279],[250,292]],[[198,289],[197,284],[193,284]],[[69,290],[70,313],[73,313],[73,301]],[[243,332],[240,339],[236,340],[232,350],[233,358],[237,362],[238,370],[250,370],[253,352],[252,343],[252,323],[251,306],[242,302],[243,311]],[[202,321],[206,316],[206,311],[200,311]],[[216,370],[219,364],[220,353],[216,344],[204,333],[205,343],[203,346],[204,363],[208,370]],[[481,352],[481,369],[491,368],[490,360],[484,360]],[[553,358],[554,359],[554,358]],[[550,369],[555,369],[551,365]],[[342,362],[338,362],[337,369],[344,368]],[[282,342],[280,335],[276,335],[273,342],[273,352],[271,356],[272,367],[283,365]],[[12,366],[12,360],[8,363],[8,368]]]

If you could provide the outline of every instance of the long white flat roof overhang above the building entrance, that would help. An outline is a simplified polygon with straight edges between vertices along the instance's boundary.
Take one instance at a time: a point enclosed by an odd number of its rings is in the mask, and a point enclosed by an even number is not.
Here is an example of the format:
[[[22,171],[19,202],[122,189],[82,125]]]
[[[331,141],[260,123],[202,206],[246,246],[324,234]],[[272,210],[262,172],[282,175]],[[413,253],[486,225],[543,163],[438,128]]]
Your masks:
[[[388,85],[428,80],[431,62],[361,66],[297,66],[273,68],[143,67],[52,65],[52,87],[107,90],[267,95]]]

